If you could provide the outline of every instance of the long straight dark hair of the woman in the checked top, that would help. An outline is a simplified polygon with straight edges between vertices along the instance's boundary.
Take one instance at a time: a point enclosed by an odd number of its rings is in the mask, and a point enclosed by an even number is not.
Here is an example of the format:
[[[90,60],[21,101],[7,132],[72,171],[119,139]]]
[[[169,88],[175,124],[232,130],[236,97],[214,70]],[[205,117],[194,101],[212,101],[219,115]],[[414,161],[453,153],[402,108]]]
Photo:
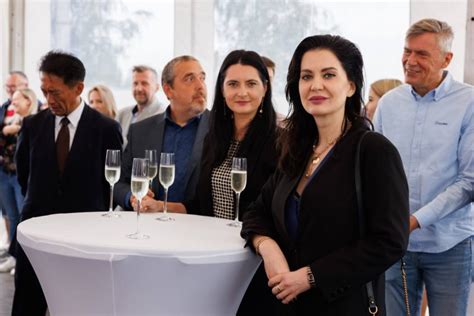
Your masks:
[[[213,162],[213,167],[218,166],[225,159],[230,143],[234,137],[234,119],[232,111],[227,106],[222,88],[227,69],[236,64],[247,65],[255,68],[260,79],[267,85],[267,92],[263,97],[262,113],[257,112],[254,119],[245,134],[245,137],[238,150],[238,155],[245,156],[252,150],[252,145],[262,137],[268,137],[269,133],[275,132],[276,114],[272,104],[272,90],[267,68],[260,58],[260,55],[254,51],[234,50],[230,52],[222,62],[216,81],[214,93],[214,103],[212,105],[209,139],[212,140],[209,158]],[[257,150],[257,149],[255,149]]]

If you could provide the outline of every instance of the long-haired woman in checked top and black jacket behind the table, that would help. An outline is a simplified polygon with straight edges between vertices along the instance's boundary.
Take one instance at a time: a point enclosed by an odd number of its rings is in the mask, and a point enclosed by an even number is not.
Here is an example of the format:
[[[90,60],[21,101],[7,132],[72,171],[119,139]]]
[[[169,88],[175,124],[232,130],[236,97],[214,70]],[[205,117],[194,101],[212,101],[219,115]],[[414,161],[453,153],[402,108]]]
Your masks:
[[[204,139],[201,173],[194,198],[168,203],[171,212],[187,212],[234,219],[231,188],[232,158],[247,158],[247,186],[241,193],[239,217],[260,194],[277,164],[276,116],[270,78],[261,57],[253,51],[227,55],[217,77],[209,132]],[[145,204],[144,204],[145,205]],[[159,210],[162,202],[146,205]],[[267,286],[263,267],[253,278],[238,315],[273,315],[278,301]]]

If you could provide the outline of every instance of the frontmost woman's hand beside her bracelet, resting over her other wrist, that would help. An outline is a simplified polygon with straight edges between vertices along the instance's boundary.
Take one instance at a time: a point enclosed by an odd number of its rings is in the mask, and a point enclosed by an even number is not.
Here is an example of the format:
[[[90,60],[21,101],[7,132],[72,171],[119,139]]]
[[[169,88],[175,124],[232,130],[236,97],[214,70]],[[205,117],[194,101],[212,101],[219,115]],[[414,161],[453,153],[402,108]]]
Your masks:
[[[283,304],[288,304],[311,288],[308,281],[308,267],[277,274],[268,281],[268,286]]]

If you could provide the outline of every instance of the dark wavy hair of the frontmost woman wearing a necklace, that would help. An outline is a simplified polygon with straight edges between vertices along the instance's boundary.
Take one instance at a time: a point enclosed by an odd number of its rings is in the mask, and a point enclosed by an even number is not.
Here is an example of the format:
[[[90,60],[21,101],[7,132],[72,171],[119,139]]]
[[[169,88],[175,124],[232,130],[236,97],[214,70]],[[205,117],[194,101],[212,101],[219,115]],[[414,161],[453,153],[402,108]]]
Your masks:
[[[303,55],[311,50],[326,49],[336,55],[347,78],[355,86],[355,92],[346,99],[343,130],[347,121],[352,125],[366,122],[361,113],[364,85],[362,55],[356,45],[341,36],[315,35],[305,38],[296,47],[288,67],[286,98],[290,104],[290,115],[285,120],[286,128],[280,134],[278,146],[281,150],[280,168],[290,177],[295,177],[305,164],[307,153],[313,143],[318,141],[318,129],[314,118],[305,111],[299,93],[301,61]]]

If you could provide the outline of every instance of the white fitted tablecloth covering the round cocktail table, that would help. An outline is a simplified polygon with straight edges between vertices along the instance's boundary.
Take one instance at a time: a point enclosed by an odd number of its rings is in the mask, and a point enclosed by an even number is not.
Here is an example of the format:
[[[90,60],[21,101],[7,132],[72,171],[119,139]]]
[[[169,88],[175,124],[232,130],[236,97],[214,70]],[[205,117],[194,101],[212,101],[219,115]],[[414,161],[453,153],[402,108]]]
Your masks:
[[[227,220],[172,214],[56,214],[18,226],[52,316],[235,315],[260,259]]]

